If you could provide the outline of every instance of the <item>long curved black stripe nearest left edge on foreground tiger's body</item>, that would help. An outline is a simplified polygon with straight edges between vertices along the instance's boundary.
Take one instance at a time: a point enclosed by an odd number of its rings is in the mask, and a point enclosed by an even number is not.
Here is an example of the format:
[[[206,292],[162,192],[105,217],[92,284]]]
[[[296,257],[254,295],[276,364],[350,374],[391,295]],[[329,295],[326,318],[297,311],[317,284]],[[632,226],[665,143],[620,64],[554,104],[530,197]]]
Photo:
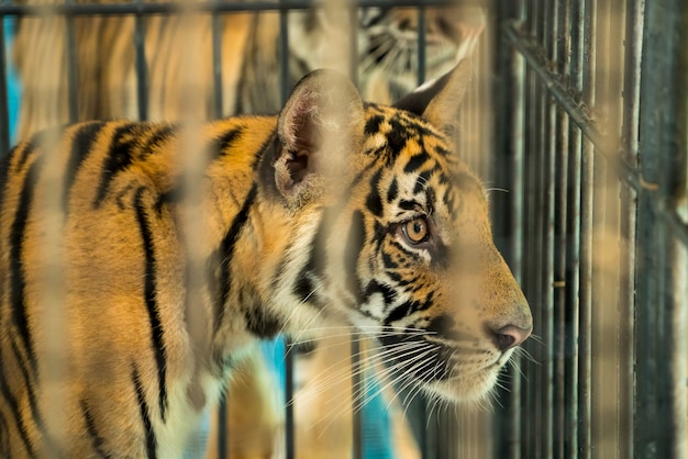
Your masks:
[[[33,201],[33,192],[37,175],[43,165],[43,159],[36,159],[29,168],[24,177],[24,186],[19,199],[19,205],[14,215],[10,232],[10,302],[12,304],[12,320],[18,328],[22,346],[26,352],[26,358],[31,367],[34,383],[37,383],[37,361],[33,338],[29,329],[29,317],[26,314],[25,290],[26,279],[24,279],[24,264],[22,261],[22,247],[24,242],[24,232],[26,231],[26,221],[31,211]]]

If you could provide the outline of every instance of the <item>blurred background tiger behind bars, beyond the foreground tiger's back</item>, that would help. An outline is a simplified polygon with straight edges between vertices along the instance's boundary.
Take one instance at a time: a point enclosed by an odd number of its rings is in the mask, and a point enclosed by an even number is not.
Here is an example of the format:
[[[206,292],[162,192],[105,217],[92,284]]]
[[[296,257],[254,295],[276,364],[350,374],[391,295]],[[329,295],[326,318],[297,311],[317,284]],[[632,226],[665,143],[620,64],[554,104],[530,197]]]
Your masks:
[[[148,119],[186,120],[189,113],[197,119],[213,119],[219,114],[279,110],[278,15],[264,12],[220,18],[220,91],[212,78],[212,24],[209,16],[187,22],[174,15],[145,19],[148,88],[145,115]],[[346,59],[332,49],[346,47],[348,32],[355,29],[362,93],[367,100],[390,103],[410,92],[417,83],[418,19],[414,9],[401,8],[359,9],[357,24],[349,22],[349,15],[328,8],[290,12],[288,78],[297,81],[309,70],[320,67],[346,71],[348,64],[342,64]],[[450,9],[428,9],[426,21],[429,78],[442,75],[468,55],[485,25],[480,8],[460,4]],[[74,25],[78,120],[137,119],[134,19],[75,18]],[[68,121],[65,30],[60,18],[22,18],[19,22],[13,53],[24,87],[19,138],[27,138],[38,128]],[[181,58],[182,54],[178,52],[188,42],[195,43],[193,47],[198,49],[192,64]],[[187,68],[191,68],[193,75],[185,75]],[[191,104],[193,110],[189,110],[190,104],[180,97],[184,93],[200,99]],[[218,93],[222,94],[219,109]],[[336,354],[329,344],[322,351]],[[284,423],[281,407],[271,403],[274,398],[269,394],[276,388],[266,385],[264,379],[269,374],[260,359],[248,358],[241,367],[236,372],[242,374],[231,382],[230,393],[237,400],[251,400],[255,415],[246,419],[245,410],[242,410],[245,402],[242,406],[230,404],[232,419],[229,424],[241,427],[229,436],[232,457],[269,457],[274,449],[270,439]],[[322,370],[315,368],[312,373]],[[255,391],[258,393],[251,393]],[[212,432],[211,444],[214,444],[217,424]],[[321,435],[308,441],[313,444]],[[299,444],[303,445],[306,440],[299,439]],[[215,457],[213,452],[212,449],[209,451],[209,458]]]

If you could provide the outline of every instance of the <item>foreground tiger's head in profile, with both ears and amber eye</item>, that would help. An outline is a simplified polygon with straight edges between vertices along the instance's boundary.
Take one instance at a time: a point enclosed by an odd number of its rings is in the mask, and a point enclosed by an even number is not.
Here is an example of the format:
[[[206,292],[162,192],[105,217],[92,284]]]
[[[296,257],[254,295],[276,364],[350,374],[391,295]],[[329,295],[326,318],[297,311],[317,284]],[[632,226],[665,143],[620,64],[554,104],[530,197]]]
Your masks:
[[[459,64],[389,108],[363,103],[339,74],[311,72],[260,166],[295,232],[274,310],[292,304],[284,320],[300,315],[297,328],[346,320],[400,378],[452,401],[484,398],[532,331],[485,189],[452,139],[468,74]]]

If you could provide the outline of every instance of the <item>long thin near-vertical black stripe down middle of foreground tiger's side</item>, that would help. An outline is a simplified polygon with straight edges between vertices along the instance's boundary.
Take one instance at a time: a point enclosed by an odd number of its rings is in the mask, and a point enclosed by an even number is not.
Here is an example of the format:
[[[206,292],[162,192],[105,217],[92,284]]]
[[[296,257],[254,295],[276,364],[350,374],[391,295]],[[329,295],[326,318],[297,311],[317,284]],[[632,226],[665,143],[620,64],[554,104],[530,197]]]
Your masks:
[[[158,377],[158,400],[160,404],[160,417],[165,422],[167,411],[167,389],[166,389],[166,369],[165,362],[167,356],[165,351],[163,323],[160,321],[159,307],[156,299],[157,272],[155,264],[155,248],[153,246],[153,234],[146,220],[146,210],[142,202],[143,188],[136,191],[134,197],[134,206],[136,209],[136,219],[138,221],[138,229],[141,231],[141,239],[143,243],[143,251],[145,256],[145,286],[144,299],[148,311],[148,320],[151,321],[151,336],[153,338],[153,350],[155,351],[155,362],[157,365]]]

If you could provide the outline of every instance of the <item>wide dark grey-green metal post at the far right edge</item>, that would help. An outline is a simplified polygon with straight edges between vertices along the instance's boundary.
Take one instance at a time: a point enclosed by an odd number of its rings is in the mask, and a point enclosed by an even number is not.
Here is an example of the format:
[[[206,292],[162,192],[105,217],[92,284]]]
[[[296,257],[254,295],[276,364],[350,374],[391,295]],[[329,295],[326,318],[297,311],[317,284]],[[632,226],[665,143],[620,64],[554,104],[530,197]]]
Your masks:
[[[635,451],[646,457],[685,457],[686,405],[685,298],[677,294],[685,278],[665,220],[653,213],[653,201],[676,211],[685,198],[687,108],[685,55],[688,9],[685,2],[646,2],[643,31],[640,152],[643,165],[639,215],[637,418]],[[680,198],[679,198],[680,197]],[[685,267],[684,267],[685,268]],[[645,326],[644,321],[648,324]],[[646,349],[645,342],[650,342]],[[662,358],[656,358],[661,355]],[[654,357],[653,357],[654,356]],[[677,365],[683,361],[683,365]],[[684,440],[681,440],[684,438]]]

